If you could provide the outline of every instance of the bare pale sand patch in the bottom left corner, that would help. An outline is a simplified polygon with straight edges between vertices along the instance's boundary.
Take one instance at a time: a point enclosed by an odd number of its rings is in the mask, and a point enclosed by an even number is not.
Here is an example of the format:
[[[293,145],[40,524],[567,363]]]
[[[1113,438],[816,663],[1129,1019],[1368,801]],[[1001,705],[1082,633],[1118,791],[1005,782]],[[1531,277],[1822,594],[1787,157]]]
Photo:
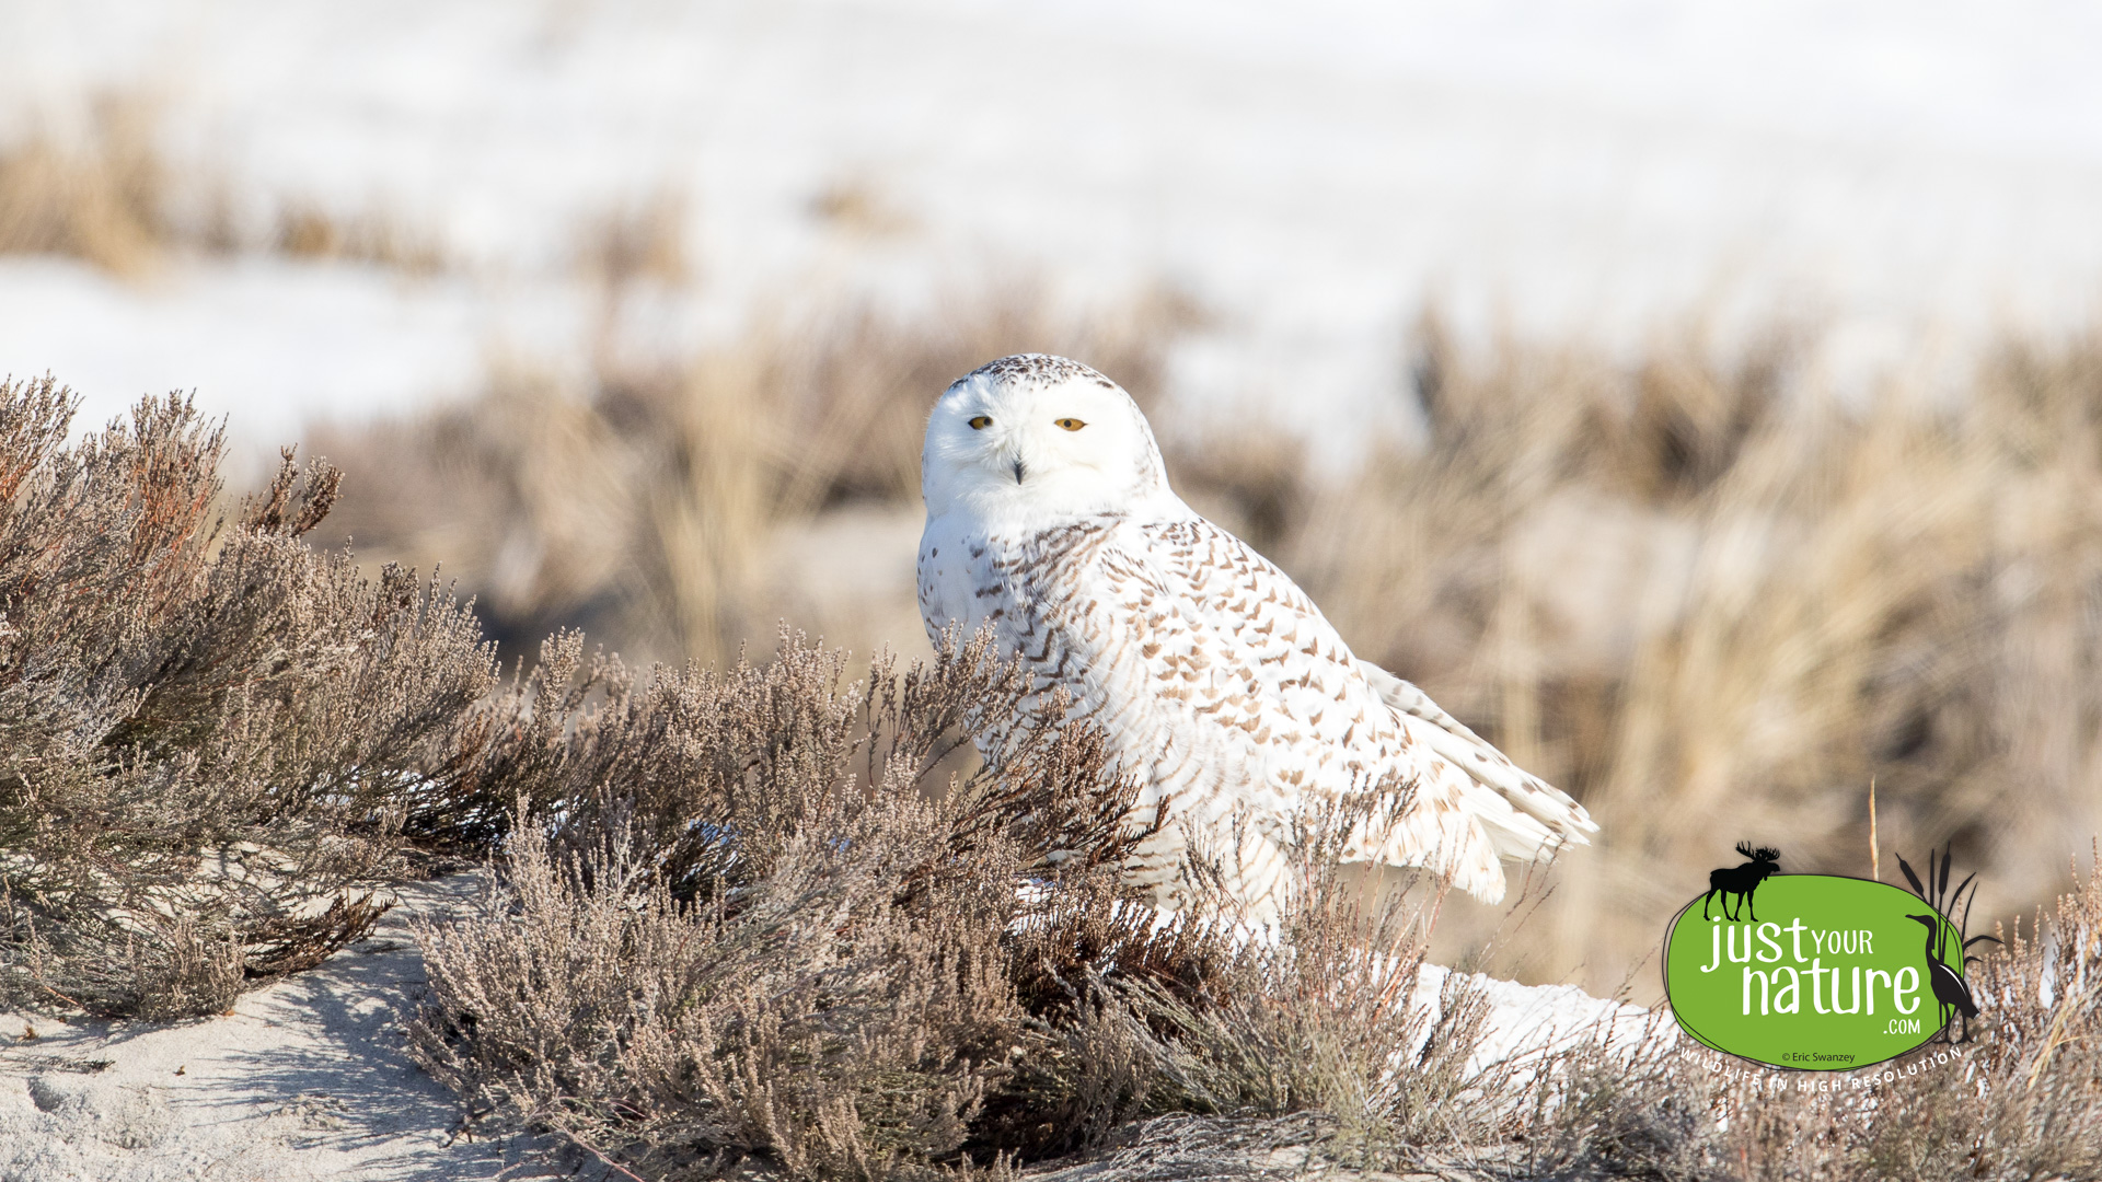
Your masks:
[[[454,1138],[452,1094],[408,1062],[401,1035],[423,989],[406,919],[471,890],[471,877],[404,888],[372,938],[231,1016],[0,1016],[0,1182],[496,1178],[530,1146]]]

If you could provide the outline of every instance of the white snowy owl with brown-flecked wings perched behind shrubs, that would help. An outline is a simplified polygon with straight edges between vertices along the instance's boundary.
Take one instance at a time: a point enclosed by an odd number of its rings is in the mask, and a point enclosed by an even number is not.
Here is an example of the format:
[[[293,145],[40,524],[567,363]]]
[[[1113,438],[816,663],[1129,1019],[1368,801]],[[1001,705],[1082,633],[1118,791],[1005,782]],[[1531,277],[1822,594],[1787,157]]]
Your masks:
[[[1146,414],[1091,368],[1022,353],[959,379],[927,421],[921,494],[927,635],[990,623],[1034,705],[1064,690],[1068,717],[1104,728],[1114,770],[1139,780],[1133,822],[1165,820],[1131,867],[1156,900],[1183,900],[1204,858],[1234,904],[1274,915],[1293,816],[1377,787],[1415,784],[1345,858],[1427,867],[1484,902],[1503,898],[1499,858],[1598,833],[1183,505]]]

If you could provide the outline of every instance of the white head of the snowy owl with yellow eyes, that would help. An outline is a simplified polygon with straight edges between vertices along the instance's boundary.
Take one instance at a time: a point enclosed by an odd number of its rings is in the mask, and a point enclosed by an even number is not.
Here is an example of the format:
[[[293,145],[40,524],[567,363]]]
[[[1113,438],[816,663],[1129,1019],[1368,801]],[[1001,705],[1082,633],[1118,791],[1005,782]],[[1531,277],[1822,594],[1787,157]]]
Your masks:
[[[1080,362],[1015,353],[956,379],[927,419],[927,515],[1062,519],[1179,505],[1146,414]]]

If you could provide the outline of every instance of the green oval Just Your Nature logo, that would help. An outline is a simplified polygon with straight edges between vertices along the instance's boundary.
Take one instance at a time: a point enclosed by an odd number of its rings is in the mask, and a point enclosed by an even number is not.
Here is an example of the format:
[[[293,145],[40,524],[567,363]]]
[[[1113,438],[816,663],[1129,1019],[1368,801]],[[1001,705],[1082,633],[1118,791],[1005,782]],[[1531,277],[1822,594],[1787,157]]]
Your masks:
[[[1854,1071],[1976,1014],[1961,986],[1963,934],[1917,894],[1833,875],[1768,873],[1751,885],[1736,900],[1717,888],[1671,921],[1665,995],[1701,1043],[1770,1066]]]

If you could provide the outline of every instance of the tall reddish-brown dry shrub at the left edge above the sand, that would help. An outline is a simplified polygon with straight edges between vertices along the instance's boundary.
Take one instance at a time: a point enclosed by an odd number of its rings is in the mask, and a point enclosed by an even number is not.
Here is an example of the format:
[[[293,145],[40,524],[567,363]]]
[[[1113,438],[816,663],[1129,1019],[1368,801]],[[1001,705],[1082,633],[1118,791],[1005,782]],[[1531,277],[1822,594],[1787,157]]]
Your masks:
[[[221,431],[179,398],[67,444],[76,400],[0,385],[0,991],[223,1010],[378,906],[496,688],[473,616],[301,538],[338,473],[286,452],[229,522]]]

